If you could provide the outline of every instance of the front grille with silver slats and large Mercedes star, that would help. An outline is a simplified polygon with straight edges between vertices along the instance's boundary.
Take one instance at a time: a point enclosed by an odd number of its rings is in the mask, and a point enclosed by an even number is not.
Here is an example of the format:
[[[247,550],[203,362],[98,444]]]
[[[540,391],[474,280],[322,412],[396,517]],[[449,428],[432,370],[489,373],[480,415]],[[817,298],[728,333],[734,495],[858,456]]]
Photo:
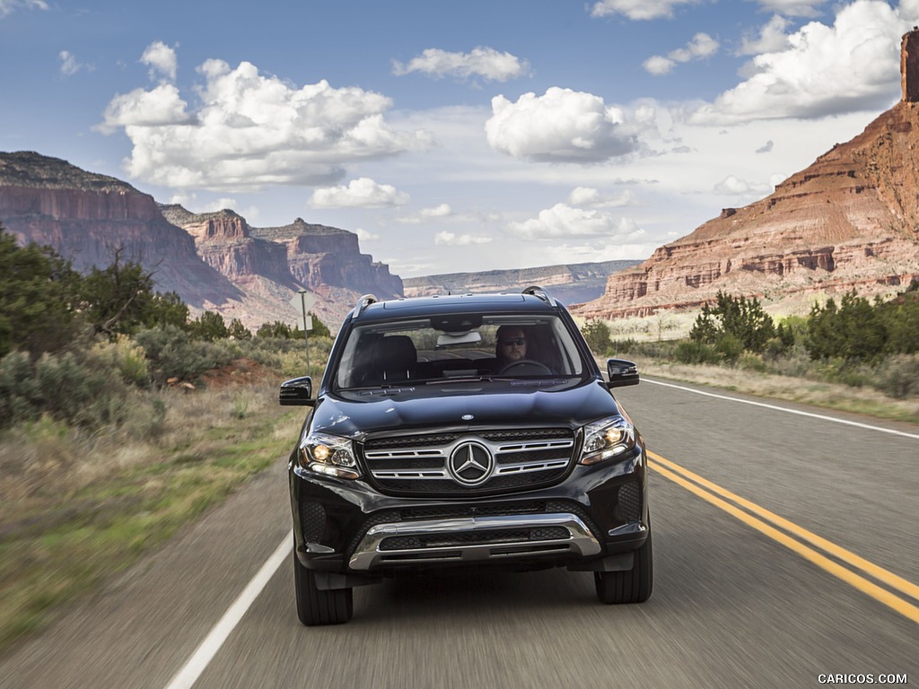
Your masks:
[[[574,447],[570,428],[521,428],[369,438],[361,450],[382,491],[473,495],[561,480]]]

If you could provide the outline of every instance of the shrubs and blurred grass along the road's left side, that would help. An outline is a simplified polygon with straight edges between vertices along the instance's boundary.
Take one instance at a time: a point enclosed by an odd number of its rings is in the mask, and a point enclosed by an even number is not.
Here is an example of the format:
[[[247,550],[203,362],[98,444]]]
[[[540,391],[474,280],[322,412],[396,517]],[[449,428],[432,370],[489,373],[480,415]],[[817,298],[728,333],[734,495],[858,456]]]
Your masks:
[[[309,373],[331,348],[313,317]],[[304,333],[190,318],[115,254],[74,272],[0,226],[0,653],[273,462]]]

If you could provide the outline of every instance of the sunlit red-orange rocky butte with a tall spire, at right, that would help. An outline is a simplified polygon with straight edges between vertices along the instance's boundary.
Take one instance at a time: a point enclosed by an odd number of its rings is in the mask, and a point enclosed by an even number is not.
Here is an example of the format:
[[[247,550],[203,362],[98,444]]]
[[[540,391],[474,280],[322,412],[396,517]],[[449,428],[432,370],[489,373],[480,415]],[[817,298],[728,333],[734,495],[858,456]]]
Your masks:
[[[767,198],[723,209],[634,268],[612,275],[584,317],[646,316],[712,303],[719,290],[765,301],[863,296],[919,279],[919,30],[902,38],[902,99]]]

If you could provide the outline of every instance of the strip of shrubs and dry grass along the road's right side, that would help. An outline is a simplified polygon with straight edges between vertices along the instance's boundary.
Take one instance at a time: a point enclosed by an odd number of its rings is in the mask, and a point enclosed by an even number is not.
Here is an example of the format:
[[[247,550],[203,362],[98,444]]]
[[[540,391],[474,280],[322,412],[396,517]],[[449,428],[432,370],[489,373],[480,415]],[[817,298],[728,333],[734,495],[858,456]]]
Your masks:
[[[778,320],[758,299],[720,292],[675,339],[615,327],[590,320],[582,332],[597,356],[634,359],[644,373],[919,423],[917,282],[886,301],[850,291]]]

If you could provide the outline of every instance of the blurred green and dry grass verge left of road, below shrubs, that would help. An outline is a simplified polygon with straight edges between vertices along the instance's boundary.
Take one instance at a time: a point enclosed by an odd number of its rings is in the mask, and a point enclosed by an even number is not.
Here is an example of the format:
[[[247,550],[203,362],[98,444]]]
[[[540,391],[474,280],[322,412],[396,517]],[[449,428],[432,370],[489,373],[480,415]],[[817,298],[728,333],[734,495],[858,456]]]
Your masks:
[[[167,393],[149,442],[47,419],[0,438],[0,652],[285,457],[301,410],[276,395]]]

